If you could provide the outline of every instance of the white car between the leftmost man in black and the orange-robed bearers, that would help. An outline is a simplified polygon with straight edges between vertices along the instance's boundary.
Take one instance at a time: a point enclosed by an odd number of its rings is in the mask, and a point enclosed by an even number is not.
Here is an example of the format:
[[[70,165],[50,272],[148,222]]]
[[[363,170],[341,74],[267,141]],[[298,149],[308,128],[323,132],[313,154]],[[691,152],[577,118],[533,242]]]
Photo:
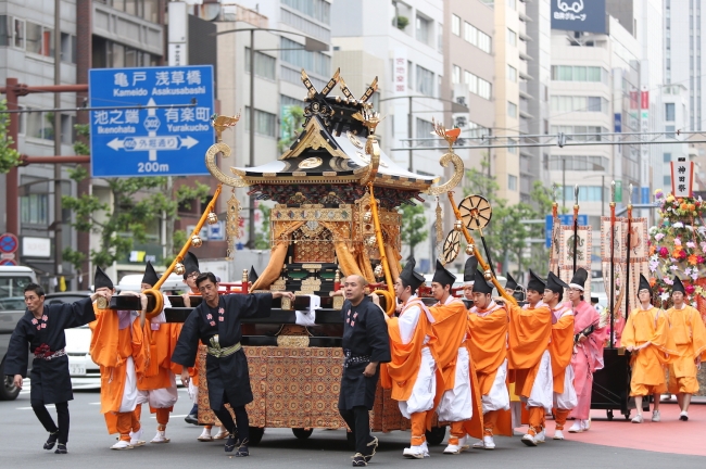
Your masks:
[[[89,291],[67,291],[48,293],[45,304],[75,303],[91,295]],[[99,366],[88,354],[91,343],[91,330],[86,326],[66,329],[66,355],[68,372],[74,389],[100,388],[101,372]]]

